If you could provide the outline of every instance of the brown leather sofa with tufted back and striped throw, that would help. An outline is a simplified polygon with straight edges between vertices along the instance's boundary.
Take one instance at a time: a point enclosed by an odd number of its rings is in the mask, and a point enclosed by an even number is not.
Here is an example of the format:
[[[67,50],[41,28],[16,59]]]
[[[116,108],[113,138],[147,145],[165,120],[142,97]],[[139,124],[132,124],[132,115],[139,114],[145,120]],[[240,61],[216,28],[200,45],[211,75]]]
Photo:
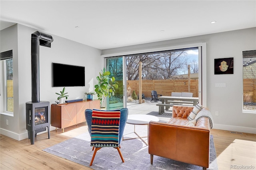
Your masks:
[[[148,153],[153,156],[209,167],[210,120],[201,117],[195,126],[188,126],[188,115],[194,107],[173,106],[172,118],[167,122],[149,123]]]

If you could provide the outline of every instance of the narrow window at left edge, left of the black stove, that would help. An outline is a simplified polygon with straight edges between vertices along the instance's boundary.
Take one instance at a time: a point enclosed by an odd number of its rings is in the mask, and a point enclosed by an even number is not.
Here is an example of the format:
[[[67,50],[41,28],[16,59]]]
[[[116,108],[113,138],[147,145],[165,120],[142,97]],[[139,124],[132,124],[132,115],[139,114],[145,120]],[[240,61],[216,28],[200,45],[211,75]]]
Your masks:
[[[4,85],[4,112],[12,113],[13,102],[13,70],[12,50],[1,52],[1,64],[3,64],[3,85]]]

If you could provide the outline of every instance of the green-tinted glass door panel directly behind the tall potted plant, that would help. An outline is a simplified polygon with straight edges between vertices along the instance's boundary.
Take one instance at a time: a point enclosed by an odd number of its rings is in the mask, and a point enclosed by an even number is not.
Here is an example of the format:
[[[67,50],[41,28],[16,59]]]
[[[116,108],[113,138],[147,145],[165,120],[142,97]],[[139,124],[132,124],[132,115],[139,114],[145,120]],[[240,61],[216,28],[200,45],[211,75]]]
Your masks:
[[[110,77],[114,76],[116,82],[118,82],[118,88],[115,89],[114,96],[106,100],[107,110],[126,107],[124,60],[124,57],[106,58],[106,70],[110,71]]]

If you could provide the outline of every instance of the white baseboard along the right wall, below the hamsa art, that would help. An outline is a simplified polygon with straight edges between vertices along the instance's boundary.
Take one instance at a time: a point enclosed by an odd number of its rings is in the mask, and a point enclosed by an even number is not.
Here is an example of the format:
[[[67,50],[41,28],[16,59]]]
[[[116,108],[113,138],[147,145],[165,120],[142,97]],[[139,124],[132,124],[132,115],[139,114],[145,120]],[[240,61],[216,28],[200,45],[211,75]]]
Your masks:
[[[248,127],[242,127],[242,126],[230,126],[230,125],[223,125],[223,124],[214,124],[213,129],[229,130],[229,131],[234,131],[234,132],[244,132],[244,133],[256,134],[256,128],[248,128]]]

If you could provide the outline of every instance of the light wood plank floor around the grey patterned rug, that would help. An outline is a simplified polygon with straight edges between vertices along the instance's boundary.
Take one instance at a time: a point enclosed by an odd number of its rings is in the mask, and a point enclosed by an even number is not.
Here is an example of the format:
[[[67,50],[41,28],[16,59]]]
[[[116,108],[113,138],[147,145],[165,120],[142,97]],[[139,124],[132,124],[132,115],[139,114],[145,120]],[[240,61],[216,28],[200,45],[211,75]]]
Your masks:
[[[87,131],[86,123],[58,129],[48,134],[40,134],[35,138],[35,144],[30,140],[14,140],[1,134],[0,138],[0,169],[1,170],[91,170],[75,162],[48,154],[42,151],[54,144],[77,136]],[[217,153],[219,170],[238,169],[234,166],[254,166],[256,169],[256,134],[232,134],[225,130],[211,130]],[[150,162],[149,162],[150,163]],[[233,166],[233,168],[231,168]],[[241,169],[241,168],[240,168]],[[245,168],[243,168],[245,169]]]

